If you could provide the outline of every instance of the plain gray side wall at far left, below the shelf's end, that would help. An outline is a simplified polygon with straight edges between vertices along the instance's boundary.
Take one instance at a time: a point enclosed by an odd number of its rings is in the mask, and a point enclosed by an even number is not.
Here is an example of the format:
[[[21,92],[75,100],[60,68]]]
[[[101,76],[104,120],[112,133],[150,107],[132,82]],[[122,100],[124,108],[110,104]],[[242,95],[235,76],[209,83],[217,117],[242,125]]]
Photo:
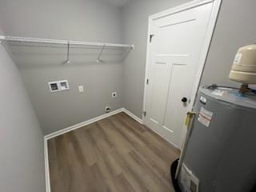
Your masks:
[[[45,191],[43,135],[17,66],[0,43],[0,191]]]

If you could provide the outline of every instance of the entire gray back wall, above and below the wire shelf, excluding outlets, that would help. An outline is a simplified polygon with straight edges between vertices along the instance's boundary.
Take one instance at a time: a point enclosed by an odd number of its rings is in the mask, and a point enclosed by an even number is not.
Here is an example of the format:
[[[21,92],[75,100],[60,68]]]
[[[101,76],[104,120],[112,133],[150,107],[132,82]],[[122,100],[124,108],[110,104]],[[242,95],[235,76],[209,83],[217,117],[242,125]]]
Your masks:
[[[122,18],[118,6],[100,0],[24,0],[1,2],[0,18],[5,34],[72,39],[93,42],[122,42]],[[106,63],[97,64],[96,50],[10,47],[22,73],[26,89],[44,134],[73,126],[122,107],[122,61],[118,51],[104,51]],[[114,56],[114,57],[113,57]],[[105,60],[105,59],[104,59]],[[50,93],[47,82],[68,80],[70,90]],[[84,94],[78,86],[84,86]],[[111,98],[117,91],[118,97]]]

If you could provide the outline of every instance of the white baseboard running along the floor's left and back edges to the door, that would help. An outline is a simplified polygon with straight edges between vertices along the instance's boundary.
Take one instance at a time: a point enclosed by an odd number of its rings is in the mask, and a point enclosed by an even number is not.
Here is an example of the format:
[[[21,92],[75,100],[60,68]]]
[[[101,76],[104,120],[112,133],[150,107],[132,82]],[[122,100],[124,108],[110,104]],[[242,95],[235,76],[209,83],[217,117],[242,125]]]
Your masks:
[[[55,138],[55,137],[58,137],[59,135],[62,135],[62,134],[66,134],[72,130],[77,130],[79,128],[82,128],[83,126],[86,126],[86,125],[89,125],[93,122],[98,122],[99,120],[102,120],[104,118],[108,118],[114,114],[119,114],[121,112],[124,112],[126,114],[128,114],[131,118],[134,118],[134,120],[136,120],[137,122],[141,123],[142,124],[142,119],[141,118],[138,118],[135,114],[132,114],[129,110],[126,110],[125,108],[121,108],[121,109],[118,109],[118,110],[114,110],[108,114],[102,114],[101,116],[98,116],[96,118],[91,118],[85,122],[80,122],[74,126],[70,126],[70,127],[67,127],[65,129],[62,129],[62,130],[58,130],[52,134],[47,134],[45,137],[44,137],[44,154],[45,154],[45,174],[46,174],[46,192],[50,192],[50,170],[49,170],[49,159],[48,159],[48,144],[47,144],[47,141],[50,139],[50,138]]]

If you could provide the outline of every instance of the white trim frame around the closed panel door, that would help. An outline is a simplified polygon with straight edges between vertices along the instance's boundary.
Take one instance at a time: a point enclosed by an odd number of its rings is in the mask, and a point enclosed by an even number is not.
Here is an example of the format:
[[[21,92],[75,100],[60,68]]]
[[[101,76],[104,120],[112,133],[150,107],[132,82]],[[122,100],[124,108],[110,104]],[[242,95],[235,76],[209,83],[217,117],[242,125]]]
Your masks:
[[[200,81],[202,78],[202,72],[203,72],[203,69],[204,69],[204,66],[206,63],[206,58],[207,58],[208,52],[210,50],[210,43],[211,43],[211,40],[214,35],[214,29],[215,29],[215,26],[217,23],[218,13],[219,13],[219,10],[220,10],[221,4],[222,4],[222,0],[194,0],[191,2],[186,2],[185,4],[182,4],[180,6],[175,6],[174,8],[171,8],[169,10],[164,10],[158,14],[150,15],[150,17],[148,19],[148,34],[147,34],[147,46],[146,46],[146,71],[145,71],[145,79],[144,79],[143,112],[146,111],[146,90],[147,90],[147,79],[148,79],[148,75],[149,75],[148,70],[149,70],[149,66],[150,66],[150,52],[151,52],[150,34],[151,34],[152,22],[154,22],[155,19],[166,17],[170,14],[176,14],[176,13],[182,12],[184,10],[190,10],[194,7],[202,6],[202,5],[205,5],[210,2],[213,2],[213,9],[210,14],[210,20],[208,22],[206,36],[205,36],[203,46],[202,46],[202,54],[200,56],[199,63],[198,63],[198,71],[197,71],[197,74],[196,74],[196,77],[195,77],[194,83],[193,83],[194,86],[193,86],[192,93],[191,93],[191,102],[190,102],[190,105],[188,106],[188,110],[192,110],[193,106],[194,106],[195,99],[196,99],[196,94],[198,93],[198,88],[199,88]],[[144,113],[142,114],[142,121],[145,124]],[[186,128],[184,126],[183,130],[182,130],[181,142],[180,142],[179,146],[176,146],[177,148],[182,149],[182,145],[183,145],[185,136],[186,136]],[[174,145],[173,143],[171,143],[171,144]]]

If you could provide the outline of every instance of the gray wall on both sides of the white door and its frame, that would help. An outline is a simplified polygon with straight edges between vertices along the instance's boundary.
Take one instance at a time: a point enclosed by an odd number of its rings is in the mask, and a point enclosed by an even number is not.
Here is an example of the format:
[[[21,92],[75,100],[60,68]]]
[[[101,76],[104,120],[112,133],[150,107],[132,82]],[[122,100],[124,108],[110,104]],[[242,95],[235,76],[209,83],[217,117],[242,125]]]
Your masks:
[[[148,16],[188,1],[133,1],[124,7],[123,26],[125,42],[134,43],[134,50],[123,68],[124,106],[142,117],[144,75],[146,65],[146,34]],[[240,46],[256,42],[254,0],[223,0],[214,38],[202,74],[201,85],[218,83],[238,86],[228,79],[234,54]]]

